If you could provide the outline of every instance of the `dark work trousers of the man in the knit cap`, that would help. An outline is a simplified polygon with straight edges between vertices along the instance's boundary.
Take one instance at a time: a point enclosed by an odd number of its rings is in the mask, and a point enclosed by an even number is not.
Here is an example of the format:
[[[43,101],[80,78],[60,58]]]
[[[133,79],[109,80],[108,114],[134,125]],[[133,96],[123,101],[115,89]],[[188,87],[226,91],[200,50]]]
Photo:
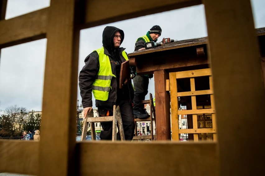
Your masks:
[[[134,104],[133,110],[144,108],[144,104],[140,104],[140,102],[145,99],[145,96],[148,93],[148,84],[149,84],[148,77],[136,75],[133,78],[133,86],[135,89],[134,98],[133,98],[133,104]]]

